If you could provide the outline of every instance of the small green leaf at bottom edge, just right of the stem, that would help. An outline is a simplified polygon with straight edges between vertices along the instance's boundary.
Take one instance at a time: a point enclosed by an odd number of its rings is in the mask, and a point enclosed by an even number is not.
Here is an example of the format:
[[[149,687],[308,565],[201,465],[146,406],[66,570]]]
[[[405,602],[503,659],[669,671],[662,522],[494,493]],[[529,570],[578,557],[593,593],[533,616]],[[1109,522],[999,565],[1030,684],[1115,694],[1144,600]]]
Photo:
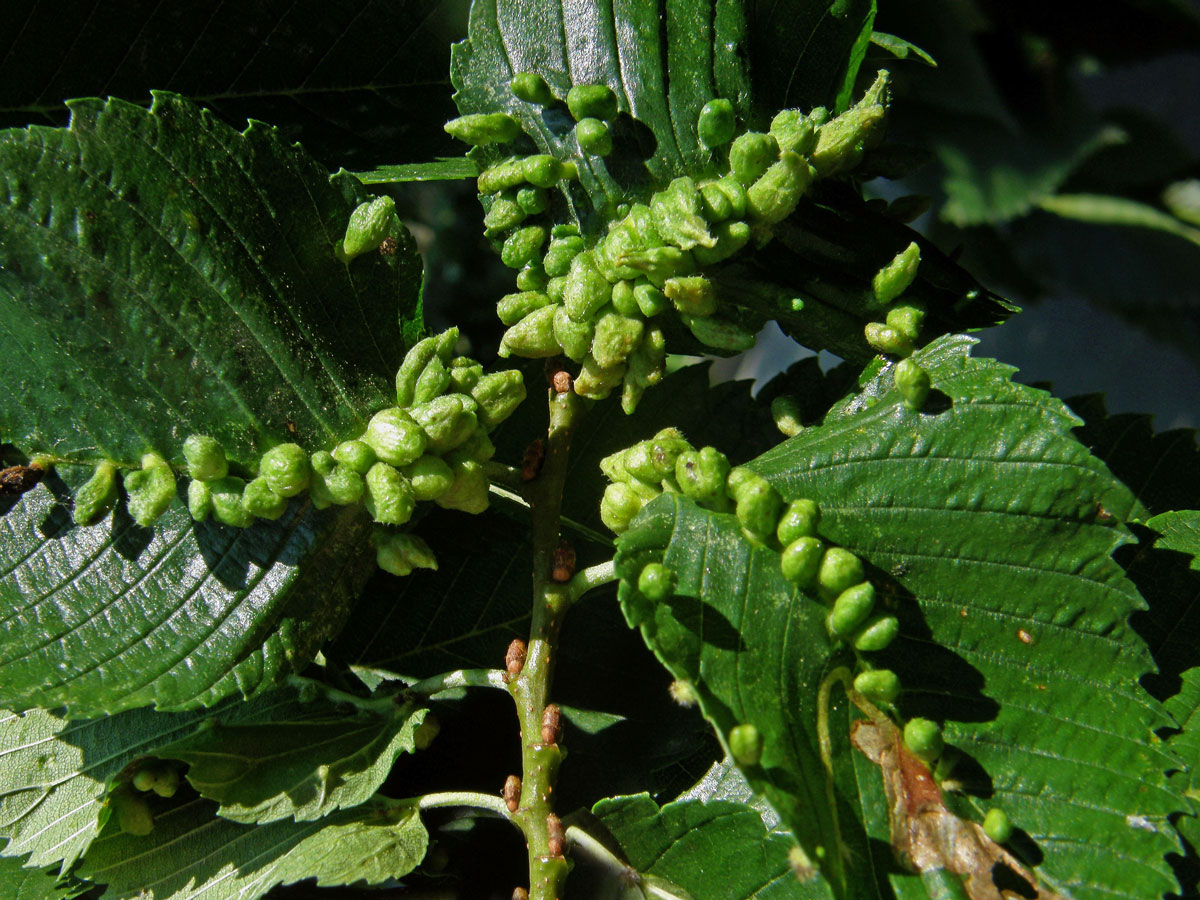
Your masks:
[[[676,800],[661,809],[648,794],[613,797],[592,810],[638,872],[707,898],[828,898],[818,878],[802,882],[788,862],[792,841],[768,833],[757,810],[730,800]]]

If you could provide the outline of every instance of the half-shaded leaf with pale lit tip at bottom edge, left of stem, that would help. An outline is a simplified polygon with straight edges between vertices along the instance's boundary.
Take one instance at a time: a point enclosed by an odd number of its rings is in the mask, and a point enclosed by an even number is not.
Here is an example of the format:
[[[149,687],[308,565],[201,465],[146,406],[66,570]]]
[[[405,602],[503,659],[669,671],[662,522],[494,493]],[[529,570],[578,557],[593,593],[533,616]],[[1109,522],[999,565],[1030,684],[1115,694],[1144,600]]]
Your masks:
[[[318,822],[245,826],[193,799],[157,814],[144,838],[106,833],[79,874],[107,884],[106,898],[253,900],[306,878],[319,887],[398,878],[421,862],[427,845],[410,800],[380,798]]]

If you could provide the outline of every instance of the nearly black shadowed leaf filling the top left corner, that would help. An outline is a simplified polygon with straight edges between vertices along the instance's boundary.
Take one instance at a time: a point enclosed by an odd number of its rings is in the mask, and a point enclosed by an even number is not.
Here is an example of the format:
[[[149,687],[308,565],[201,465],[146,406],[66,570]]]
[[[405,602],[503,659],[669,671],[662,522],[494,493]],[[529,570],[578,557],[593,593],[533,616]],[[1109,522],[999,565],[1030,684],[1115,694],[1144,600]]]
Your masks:
[[[101,0],[8,7],[20,36],[0,60],[0,127],[61,125],[64,97],[142,102],[151,89],[210,106],[227,121],[284,127],[318,158],[366,168],[452,152],[450,42],[467,0],[366,0],[322,7]]]

